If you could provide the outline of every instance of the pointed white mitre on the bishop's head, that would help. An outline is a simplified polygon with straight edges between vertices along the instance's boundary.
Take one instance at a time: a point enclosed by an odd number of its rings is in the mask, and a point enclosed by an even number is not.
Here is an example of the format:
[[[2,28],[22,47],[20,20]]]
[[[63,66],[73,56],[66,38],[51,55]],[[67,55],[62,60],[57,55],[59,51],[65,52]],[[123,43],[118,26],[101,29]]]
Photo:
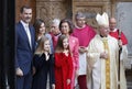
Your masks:
[[[106,12],[103,12],[102,15],[100,15],[98,13],[96,15],[96,20],[97,20],[98,25],[109,27],[109,18],[108,18],[108,14]]]

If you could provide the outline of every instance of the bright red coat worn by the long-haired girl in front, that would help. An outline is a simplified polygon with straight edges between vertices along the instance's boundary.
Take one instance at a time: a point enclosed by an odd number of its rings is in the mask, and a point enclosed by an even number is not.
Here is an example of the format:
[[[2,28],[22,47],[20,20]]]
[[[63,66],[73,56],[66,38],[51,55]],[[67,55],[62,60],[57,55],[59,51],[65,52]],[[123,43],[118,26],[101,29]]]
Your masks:
[[[55,89],[70,89],[67,79],[72,80],[73,59],[70,54],[55,53]]]

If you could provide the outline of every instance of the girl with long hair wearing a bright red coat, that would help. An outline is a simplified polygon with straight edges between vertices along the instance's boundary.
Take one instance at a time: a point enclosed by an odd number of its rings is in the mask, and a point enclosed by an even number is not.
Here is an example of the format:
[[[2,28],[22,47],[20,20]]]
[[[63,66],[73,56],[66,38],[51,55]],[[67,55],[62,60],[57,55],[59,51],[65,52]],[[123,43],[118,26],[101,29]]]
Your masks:
[[[58,37],[55,49],[55,89],[70,89],[73,59],[66,35]]]

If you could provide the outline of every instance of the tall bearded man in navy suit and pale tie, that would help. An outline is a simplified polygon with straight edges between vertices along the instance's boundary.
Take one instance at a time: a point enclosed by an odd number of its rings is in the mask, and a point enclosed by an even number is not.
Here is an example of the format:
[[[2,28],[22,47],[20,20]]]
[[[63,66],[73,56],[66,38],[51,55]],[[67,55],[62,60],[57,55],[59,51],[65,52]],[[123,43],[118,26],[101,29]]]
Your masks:
[[[32,59],[35,48],[35,30],[30,24],[32,9],[23,5],[20,10],[20,22],[15,25],[16,89],[31,89]]]

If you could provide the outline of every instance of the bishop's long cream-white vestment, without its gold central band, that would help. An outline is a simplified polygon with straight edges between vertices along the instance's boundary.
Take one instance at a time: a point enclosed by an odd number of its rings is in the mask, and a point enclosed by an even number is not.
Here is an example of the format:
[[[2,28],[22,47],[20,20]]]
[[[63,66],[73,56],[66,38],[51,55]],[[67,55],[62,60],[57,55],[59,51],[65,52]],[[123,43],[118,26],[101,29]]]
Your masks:
[[[106,37],[108,40],[109,47],[109,59],[110,59],[110,89],[118,89],[118,63],[119,63],[119,46],[118,41],[109,36]],[[100,58],[100,54],[105,52],[105,45],[102,42],[103,37],[100,35],[96,35],[88,48],[87,53],[87,63],[88,63],[88,89],[106,89],[106,59]],[[123,54],[122,54],[123,56]],[[124,76],[124,69],[122,66],[120,67],[120,89],[127,89],[127,81]]]

